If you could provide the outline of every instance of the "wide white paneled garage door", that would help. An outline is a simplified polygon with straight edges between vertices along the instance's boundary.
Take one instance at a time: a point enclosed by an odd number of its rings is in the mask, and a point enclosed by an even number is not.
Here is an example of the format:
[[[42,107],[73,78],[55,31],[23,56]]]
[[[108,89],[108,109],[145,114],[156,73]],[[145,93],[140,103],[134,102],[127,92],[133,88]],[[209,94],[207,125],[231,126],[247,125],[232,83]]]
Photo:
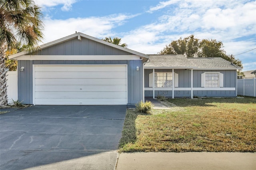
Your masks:
[[[34,65],[35,105],[126,105],[126,65]]]

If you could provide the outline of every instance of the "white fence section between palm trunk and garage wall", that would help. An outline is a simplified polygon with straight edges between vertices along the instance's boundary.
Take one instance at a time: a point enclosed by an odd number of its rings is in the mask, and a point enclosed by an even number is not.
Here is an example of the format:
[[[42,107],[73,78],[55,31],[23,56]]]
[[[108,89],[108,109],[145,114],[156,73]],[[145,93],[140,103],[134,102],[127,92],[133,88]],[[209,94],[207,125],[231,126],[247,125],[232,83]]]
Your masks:
[[[18,100],[18,71],[7,71],[7,97],[8,103]]]

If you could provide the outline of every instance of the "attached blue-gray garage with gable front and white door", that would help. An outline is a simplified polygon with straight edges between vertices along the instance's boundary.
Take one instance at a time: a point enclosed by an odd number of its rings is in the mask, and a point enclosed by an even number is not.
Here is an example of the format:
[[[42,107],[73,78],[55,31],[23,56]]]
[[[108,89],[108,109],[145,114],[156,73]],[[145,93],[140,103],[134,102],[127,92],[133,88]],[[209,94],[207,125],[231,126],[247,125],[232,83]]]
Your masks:
[[[33,105],[134,105],[144,100],[149,56],[82,33],[9,56],[18,100]]]

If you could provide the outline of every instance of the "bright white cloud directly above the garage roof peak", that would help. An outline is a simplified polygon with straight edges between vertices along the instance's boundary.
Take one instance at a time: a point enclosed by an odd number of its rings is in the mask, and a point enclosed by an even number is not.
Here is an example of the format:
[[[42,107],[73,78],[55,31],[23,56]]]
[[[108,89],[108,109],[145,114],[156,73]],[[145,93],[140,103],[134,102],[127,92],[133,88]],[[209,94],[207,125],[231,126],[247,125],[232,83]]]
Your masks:
[[[51,42],[77,32],[96,37],[105,38],[112,35],[112,29],[122,25],[126,20],[136,15],[114,14],[103,17],[69,18],[67,20],[54,20],[45,18],[44,43]]]

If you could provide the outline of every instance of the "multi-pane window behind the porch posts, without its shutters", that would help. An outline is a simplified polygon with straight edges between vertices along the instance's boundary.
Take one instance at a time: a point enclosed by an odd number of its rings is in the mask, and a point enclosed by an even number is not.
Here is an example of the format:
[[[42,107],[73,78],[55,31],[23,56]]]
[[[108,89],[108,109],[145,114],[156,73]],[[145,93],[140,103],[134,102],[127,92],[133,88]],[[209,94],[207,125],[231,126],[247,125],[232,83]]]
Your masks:
[[[172,73],[155,73],[155,87],[172,87]]]

